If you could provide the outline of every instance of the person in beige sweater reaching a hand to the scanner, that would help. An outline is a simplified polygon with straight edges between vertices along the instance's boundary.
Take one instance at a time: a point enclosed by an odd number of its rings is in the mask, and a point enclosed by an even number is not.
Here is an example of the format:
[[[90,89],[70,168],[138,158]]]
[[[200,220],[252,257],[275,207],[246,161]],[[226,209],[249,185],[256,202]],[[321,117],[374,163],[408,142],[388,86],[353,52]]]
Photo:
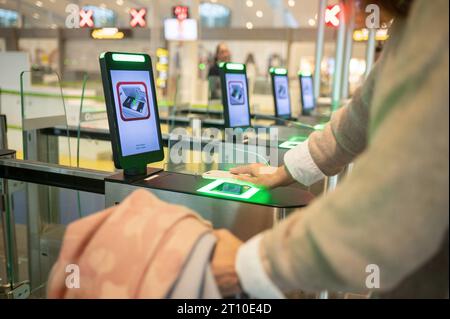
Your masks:
[[[353,162],[352,174],[247,243],[216,231],[212,265],[223,295],[373,289],[448,298],[449,3],[371,3],[395,20],[349,105],[289,151],[274,174],[260,174],[258,165],[232,170],[268,188],[311,185]],[[373,269],[379,282],[368,285]]]

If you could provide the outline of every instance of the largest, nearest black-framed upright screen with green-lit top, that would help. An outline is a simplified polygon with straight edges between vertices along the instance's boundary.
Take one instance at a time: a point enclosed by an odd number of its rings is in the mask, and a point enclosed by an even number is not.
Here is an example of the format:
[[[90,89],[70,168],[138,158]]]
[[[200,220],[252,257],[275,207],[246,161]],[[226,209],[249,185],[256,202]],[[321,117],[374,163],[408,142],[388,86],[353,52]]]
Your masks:
[[[150,56],[100,56],[106,110],[117,168],[145,168],[164,158]]]

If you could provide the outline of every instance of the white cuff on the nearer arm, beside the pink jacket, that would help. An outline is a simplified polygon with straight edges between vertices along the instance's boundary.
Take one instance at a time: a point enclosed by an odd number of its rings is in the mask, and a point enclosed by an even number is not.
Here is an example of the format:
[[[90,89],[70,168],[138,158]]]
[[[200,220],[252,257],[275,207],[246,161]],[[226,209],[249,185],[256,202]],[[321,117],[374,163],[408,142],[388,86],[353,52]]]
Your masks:
[[[236,272],[242,289],[253,298],[284,299],[285,296],[264,270],[259,245],[262,234],[243,244],[237,253]]]

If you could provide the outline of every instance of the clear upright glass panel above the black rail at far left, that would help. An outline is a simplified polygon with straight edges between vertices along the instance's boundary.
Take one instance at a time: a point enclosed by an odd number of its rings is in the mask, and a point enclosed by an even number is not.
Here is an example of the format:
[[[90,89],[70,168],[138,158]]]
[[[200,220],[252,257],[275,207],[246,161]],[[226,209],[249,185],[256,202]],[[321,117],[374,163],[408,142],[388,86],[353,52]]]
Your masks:
[[[74,95],[71,96],[70,93]],[[78,105],[77,92],[63,92],[56,72],[24,71],[20,75],[23,148],[19,158],[72,165],[69,122]],[[67,100],[65,98],[67,96]]]

